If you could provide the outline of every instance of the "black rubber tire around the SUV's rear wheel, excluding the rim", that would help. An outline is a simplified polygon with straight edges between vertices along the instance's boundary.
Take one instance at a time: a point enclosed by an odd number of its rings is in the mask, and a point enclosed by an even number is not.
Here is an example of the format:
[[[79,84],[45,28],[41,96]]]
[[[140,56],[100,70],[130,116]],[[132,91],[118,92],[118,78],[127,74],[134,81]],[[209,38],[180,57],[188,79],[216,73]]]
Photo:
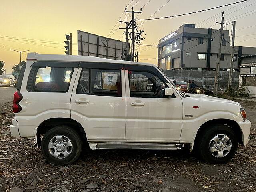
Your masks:
[[[67,137],[72,142],[72,150],[70,151],[70,154],[65,158],[56,158],[52,156],[48,148],[48,144],[50,140],[54,138],[54,136],[58,136],[58,135],[62,135],[64,136],[64,138]],[[42,148],[42,153],[46,158],[46,160],[48,160],[48,162],[55,165],[67,165],[75,162],[80,156],[82,151],[82,140],[78,132],[76,132],[74,129],[72,129],[69,126],[60,125],[60,126],[55,126],[52,129],[50,129],[48,132],[46,132],[46,134],[42,139],[41,148]],[[51,150],[52,152],[55,151],[54,149],[51,149]]]

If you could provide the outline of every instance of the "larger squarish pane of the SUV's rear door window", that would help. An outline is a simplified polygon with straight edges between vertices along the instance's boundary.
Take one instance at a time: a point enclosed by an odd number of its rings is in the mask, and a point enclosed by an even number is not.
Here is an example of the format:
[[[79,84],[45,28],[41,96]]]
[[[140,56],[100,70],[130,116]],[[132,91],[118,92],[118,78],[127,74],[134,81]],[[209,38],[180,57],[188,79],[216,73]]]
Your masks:
[[[121,96],[121,71],[91,69],[91,94]]]

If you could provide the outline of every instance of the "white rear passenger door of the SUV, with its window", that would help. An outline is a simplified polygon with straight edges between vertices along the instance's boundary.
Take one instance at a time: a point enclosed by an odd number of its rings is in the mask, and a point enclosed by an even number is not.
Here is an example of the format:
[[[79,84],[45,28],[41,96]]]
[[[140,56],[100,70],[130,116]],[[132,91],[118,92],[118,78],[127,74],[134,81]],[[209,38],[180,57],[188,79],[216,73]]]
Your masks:
[[[88,141],[125,138],[126,95],[122,64],[82,63],[71,97],[71,118]]]

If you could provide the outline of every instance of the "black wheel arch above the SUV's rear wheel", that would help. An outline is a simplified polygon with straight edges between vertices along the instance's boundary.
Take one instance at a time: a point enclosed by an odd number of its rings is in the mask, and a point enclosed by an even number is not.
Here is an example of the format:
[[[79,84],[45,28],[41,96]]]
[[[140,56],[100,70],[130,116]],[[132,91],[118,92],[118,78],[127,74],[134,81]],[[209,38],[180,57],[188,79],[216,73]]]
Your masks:
[[[50,119],[44,120],[36,130],[37,147],[41,146],[41,135],[44,135],[48,130],[58,125],[66,125],[66,126],[72,127],[74,130],[76,130],[79,133],[82,140],[87,140],[86,132],[84,128],[76,120],[71,118],[50,118]]]

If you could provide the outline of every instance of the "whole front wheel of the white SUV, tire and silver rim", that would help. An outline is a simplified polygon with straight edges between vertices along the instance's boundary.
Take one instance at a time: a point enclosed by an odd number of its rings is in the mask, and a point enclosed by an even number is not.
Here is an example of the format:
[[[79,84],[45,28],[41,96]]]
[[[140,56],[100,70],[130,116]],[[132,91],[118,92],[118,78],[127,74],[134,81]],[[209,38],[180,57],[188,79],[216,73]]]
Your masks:
[[[238,147],[238,139],[228,126],[213,125],[197,137],[198,155],[209,163],[224,163],[231,160]]]

